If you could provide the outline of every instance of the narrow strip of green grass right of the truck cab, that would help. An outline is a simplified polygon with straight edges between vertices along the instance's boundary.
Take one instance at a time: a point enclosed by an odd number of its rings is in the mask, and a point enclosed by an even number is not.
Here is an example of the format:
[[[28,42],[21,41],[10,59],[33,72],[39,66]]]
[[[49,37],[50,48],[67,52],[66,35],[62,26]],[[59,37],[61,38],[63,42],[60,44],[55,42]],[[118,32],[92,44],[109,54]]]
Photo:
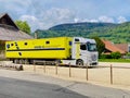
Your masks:
[[[125,62],[130,63],[130,59],[99,59],[100,62]]]

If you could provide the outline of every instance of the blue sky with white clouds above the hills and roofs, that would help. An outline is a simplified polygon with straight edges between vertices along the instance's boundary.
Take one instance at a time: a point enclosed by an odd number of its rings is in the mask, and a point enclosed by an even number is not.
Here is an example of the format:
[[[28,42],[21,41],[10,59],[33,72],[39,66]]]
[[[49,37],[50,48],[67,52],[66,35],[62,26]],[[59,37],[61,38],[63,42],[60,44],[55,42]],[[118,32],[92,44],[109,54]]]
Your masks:
[[[130,0],[0,0],[0,13],[27,21],[31,32],[78,22],[130,21]]]

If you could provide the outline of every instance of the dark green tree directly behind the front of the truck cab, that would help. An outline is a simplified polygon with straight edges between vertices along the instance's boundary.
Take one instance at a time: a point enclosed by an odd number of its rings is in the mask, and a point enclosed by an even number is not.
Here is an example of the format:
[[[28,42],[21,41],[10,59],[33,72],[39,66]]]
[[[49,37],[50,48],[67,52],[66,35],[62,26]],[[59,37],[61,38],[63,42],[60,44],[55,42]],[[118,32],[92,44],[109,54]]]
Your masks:
[[[96,41],[96,47],[98,47],[99,56],[101,57],[102,52],[105,49],[105,45],[104,45],[104,42],[99,37],[92,37],[92,38],[95,39],[95,41]]]

